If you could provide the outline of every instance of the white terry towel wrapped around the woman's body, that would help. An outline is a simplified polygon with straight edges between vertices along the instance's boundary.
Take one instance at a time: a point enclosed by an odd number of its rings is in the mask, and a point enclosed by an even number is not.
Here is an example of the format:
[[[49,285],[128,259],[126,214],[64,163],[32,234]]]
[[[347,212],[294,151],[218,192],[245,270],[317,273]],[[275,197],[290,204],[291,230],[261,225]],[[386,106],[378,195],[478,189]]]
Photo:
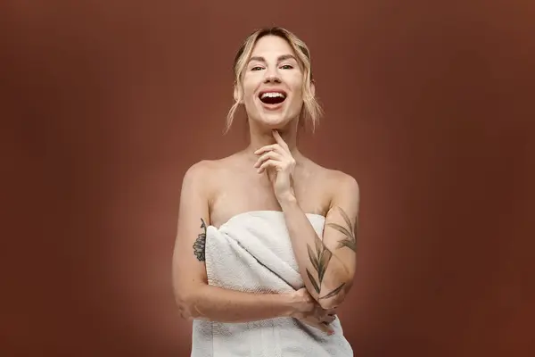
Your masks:
[[[319,237],[325,217],[307,214]],[[303,287],[284,213],[254,211],[235,215],[206,232],[208,283],[252,293],[284,293]],[[352,356],[340,320],[327,336],[292,318],[245,323],[193,321],[192,357]]]

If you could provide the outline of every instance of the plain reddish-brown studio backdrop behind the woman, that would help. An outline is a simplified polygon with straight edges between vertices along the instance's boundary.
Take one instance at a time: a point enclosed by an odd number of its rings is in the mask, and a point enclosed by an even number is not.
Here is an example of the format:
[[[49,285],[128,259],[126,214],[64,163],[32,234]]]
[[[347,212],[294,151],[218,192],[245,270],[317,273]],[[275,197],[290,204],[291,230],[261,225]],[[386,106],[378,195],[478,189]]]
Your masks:
[[[221,132],[243,38],[309,44],[303,151],[362,190],[359,356],[535,355],[529,1],[0,5],[0,355],[187,356],[170,288],[180,183]]]

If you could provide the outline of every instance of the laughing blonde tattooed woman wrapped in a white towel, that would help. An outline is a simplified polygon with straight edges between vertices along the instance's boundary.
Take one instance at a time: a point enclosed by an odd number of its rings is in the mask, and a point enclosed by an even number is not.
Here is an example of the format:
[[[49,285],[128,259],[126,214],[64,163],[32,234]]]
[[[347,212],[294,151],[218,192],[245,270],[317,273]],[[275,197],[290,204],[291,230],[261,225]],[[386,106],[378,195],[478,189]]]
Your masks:
[[[286,29],[252,33],[235,58],[234,96],[226,128],[243,105],[250,145],[193,164],[181,191],[173,284],[193,320],[192,355],[350,356],[334,309],[355,272],[358,183],[297,148],[300,124],[314,127],[321,112],[308,47]],[[271,283],[243,287],[251,277]]]

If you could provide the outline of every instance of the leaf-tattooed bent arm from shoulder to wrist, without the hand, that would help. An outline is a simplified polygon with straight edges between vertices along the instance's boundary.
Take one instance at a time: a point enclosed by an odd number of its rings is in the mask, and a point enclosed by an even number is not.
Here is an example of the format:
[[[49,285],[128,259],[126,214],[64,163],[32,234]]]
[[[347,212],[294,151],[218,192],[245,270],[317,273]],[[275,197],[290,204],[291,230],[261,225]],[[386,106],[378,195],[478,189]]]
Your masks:
[[[323,240],[317,236],[294,195],[279,199],[300,275],[310,295],[324,309],[342,303],[352,286],[356,266],[358,183],[349,175],[337,174],[341,178],[333,188]]]

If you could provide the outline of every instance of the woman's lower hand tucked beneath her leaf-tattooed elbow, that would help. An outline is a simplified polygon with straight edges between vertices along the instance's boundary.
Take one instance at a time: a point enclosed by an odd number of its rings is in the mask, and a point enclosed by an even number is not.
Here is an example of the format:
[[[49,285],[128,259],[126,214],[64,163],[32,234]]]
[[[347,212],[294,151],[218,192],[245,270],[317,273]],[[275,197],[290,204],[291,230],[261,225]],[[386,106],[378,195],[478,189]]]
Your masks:
[[[324,331],[327,335],[334,333],[329,324],[335,320],[334,310],[325,310],[317,304],[314,298],[309,294],[307,288],[303,287],[293,293],[294,312],[292,318]]]

